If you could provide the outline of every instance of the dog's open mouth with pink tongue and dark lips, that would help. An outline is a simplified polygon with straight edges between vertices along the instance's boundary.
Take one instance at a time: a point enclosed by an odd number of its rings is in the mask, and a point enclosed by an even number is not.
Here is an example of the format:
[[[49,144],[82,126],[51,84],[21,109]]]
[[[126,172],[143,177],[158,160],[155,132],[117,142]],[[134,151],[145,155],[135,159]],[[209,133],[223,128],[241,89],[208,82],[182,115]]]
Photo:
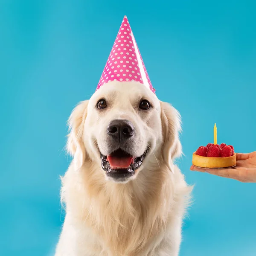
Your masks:
[[[100,154],[102,169],[106,171],[108,177],[115,180],[124,181],[135,174],[145,159],[149,148],[140,157],[134,157],[121,148],[113,151],[110,155]]]

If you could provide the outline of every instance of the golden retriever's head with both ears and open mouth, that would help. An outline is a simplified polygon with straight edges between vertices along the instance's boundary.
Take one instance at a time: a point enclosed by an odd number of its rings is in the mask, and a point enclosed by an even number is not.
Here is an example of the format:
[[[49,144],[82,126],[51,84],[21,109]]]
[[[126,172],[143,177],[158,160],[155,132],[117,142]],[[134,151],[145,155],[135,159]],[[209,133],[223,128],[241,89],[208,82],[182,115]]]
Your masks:
[[[88,159],[107,180],[128,182],[154,161],[173,171],[172,158],[181,152],[178,112],[138,82],[102,86],[74,109],[69,124],[76,168]]]

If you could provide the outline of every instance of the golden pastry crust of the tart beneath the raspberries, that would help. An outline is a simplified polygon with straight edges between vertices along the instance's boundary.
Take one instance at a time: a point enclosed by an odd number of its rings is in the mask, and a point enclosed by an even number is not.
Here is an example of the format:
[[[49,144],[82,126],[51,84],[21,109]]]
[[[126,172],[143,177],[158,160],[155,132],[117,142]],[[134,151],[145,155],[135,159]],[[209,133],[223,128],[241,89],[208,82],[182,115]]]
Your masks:
[[[231,157],[202,157],[193,153],[192,164],[203,168],[225,168],[236,165],[236,153]]]

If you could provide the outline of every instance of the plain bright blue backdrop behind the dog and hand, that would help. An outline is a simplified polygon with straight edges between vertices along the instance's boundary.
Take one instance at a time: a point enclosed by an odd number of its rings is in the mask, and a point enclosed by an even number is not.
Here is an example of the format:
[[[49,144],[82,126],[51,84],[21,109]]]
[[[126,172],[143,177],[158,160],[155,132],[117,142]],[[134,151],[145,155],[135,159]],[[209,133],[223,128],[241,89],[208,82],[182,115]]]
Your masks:
[[[180,256],[255,256],[256,184],[189,171],[214,122],[219,143],[256,150],[255,12],[253,0],[0,0],[0,255],[54,254],[66,120],[127,15],[157,96],[182,116],[178,162],[195,189]]]

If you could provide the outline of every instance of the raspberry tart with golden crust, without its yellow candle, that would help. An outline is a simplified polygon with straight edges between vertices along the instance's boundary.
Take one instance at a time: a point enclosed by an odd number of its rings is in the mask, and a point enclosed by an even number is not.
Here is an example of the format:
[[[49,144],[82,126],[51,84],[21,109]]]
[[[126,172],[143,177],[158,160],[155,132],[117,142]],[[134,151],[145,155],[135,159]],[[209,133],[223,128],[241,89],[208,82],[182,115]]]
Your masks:
[[[232,145],[209,143],[193,153],[192,164],[201,168],[227,168],[236,165],[236,153]]]

